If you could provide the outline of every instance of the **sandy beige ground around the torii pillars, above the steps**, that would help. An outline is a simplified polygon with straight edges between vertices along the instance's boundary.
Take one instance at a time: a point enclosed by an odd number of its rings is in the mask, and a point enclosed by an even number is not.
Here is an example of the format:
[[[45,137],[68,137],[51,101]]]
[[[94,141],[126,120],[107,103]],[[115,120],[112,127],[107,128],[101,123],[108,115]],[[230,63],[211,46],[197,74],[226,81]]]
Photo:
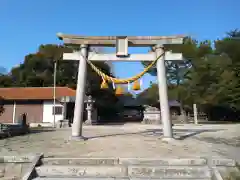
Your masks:
[[[162,141],[160,125],[84,126],[87,141],[71,129],[0,140],[1,155],[43,152],[45,157],[225,157],[240,162],[240,125],[179,125],[176,139]]]

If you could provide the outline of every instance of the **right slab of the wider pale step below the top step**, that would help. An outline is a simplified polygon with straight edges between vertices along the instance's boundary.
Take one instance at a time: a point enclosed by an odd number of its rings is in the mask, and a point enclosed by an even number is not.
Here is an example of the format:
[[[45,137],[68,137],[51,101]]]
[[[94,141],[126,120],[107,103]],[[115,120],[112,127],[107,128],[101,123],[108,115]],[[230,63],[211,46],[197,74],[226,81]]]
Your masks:
[[[129,166],[128,175],[130,177],[151,177],[151,178],[211,178],[212,173],[208,167],[179,167],[179,166]]]

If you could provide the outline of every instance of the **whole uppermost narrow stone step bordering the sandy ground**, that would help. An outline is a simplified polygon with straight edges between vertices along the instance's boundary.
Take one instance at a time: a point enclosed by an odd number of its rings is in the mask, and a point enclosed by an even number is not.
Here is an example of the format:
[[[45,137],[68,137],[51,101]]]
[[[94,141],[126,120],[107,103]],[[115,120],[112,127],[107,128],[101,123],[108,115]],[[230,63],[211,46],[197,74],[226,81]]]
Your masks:
[[[205,166],[205,158],[43,158],[45,165]]]

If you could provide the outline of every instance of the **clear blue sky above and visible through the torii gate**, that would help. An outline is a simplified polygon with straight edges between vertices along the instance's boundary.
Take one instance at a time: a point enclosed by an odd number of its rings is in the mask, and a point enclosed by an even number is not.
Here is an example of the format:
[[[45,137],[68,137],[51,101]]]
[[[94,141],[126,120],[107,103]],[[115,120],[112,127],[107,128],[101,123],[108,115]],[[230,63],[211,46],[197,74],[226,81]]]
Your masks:
[[[61,43],[57,32],[217,39],[240,28],[239,7],[238,0],[0,0],[0,66],[23,62],[40,44]],[[142,69],[138,62],[115,64],[123,78]],[[155,79],[146,75],[144,87]]]

